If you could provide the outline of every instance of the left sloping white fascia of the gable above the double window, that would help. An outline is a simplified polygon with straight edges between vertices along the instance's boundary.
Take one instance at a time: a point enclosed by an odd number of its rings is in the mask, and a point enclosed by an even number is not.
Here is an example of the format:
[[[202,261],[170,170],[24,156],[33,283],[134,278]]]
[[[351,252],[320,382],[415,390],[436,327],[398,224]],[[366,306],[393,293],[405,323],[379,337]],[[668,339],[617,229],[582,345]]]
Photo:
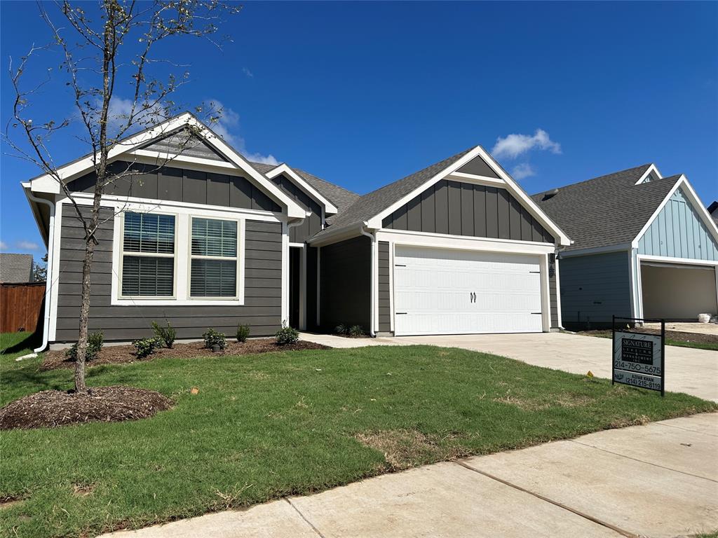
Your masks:
[[[134,150],[137,146],[141,146],[142,144],[147,143],[164,133],[174,131],[182,125],[189,123],[190,118],[192,118],[192,114],[186,112],[178,115],[176,118],[164,121],[148,131],[131,136],[126,141],[118,143],[115,147],[113,147],[108,153],[108,159],[115,159],[117,156],[126,153],[127,151]],[[89,155],[78,161],[65,164],[65,166],[60,166],[60,168],[57,169],[57,175],[60,179],[62,179],[62,181],[70,181],[71,179],[74,179],[75,176],[79,176],[80,174],[83,174],[93,168],[95,157],[96,156]],[[38,176],[35,179],[30,180],[30,183],[32,184],[33,192],[48,192],[52,194],[59,194],[61,192],[60,184],[58,184],[57,180],[50,174]]]

